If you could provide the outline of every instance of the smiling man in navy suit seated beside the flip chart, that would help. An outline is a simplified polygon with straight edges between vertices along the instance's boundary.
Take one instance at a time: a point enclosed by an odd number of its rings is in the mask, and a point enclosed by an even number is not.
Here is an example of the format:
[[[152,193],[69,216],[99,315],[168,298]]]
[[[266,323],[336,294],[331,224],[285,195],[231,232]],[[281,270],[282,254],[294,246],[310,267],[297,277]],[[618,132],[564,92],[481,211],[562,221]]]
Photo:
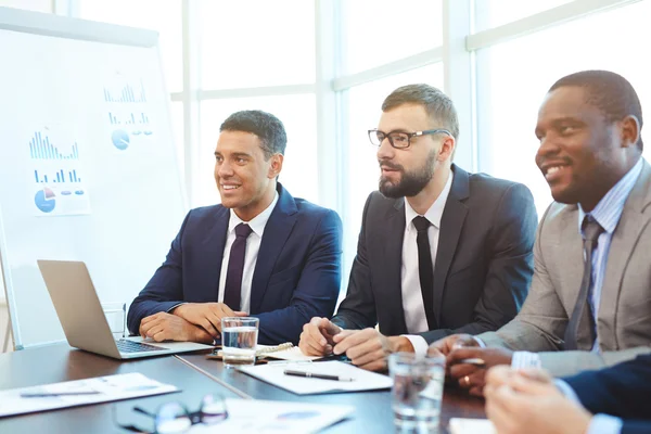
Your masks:
[[[221,318],[259,318],[260,344],[298,342],[330,317],[341,282],[339,215],[278,182],[286,135],[260,111],[221,124],[215,179],[221,204],[190,210],[165,263],[131,304],[131,333],[212,343]]]

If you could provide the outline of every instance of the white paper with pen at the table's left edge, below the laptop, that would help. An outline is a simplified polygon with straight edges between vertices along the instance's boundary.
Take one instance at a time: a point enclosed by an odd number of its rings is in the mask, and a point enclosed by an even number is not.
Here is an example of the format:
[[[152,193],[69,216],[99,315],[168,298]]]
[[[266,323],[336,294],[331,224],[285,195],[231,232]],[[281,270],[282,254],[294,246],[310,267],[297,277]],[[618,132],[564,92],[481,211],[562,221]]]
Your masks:
[[[176,391],[138,372],[12,388],[0,392],[0,418]]]

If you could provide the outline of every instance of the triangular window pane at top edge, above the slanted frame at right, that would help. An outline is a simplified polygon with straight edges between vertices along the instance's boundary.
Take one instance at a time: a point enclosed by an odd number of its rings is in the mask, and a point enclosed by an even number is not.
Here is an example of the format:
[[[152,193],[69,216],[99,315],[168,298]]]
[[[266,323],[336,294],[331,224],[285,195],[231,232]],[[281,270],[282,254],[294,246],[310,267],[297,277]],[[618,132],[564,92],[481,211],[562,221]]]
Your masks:
[[[538,12],[547,11],[573,0],[475,0],[476,31],[498,27]]]

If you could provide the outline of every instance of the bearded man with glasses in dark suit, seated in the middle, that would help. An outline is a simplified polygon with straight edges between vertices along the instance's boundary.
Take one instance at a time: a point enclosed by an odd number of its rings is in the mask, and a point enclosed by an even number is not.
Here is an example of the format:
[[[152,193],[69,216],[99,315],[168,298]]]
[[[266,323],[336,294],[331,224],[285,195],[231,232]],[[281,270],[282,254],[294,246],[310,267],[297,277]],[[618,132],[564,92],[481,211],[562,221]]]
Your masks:
[[[348,292],[332,320],[305,324],[299,346],[383,370],[391,353],[424,355],[437,339],[512,319],[533,272],[537,216],[523,184],[452,164],[457,113],[436,88],[393,91],[369,137],[380,191],[363,208]]]

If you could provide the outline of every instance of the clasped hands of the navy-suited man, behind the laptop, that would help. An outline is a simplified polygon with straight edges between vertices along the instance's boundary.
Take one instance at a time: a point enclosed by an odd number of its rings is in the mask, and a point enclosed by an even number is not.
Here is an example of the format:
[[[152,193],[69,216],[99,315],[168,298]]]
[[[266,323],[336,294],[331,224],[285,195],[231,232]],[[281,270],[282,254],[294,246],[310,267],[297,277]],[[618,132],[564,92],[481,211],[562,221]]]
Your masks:
[[[170,312],[150,315],[140,321],[139,333],[156,342],[183,341],[210,344],[221,336],[221,318],[245,317],[224,303],[184,303]]]

